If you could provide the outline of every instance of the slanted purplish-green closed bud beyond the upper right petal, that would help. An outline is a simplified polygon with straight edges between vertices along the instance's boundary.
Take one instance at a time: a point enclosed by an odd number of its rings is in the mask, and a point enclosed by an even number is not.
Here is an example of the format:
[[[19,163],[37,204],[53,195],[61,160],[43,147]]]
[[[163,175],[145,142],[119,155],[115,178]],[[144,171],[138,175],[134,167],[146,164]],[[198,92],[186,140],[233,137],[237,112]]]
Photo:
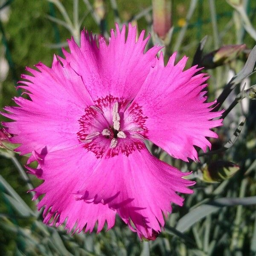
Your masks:
[[[223,47],[204,55],[201,66],[206,69],[211,69],[226,64],[237,58],[245,48],[245,44],[224,45]]]

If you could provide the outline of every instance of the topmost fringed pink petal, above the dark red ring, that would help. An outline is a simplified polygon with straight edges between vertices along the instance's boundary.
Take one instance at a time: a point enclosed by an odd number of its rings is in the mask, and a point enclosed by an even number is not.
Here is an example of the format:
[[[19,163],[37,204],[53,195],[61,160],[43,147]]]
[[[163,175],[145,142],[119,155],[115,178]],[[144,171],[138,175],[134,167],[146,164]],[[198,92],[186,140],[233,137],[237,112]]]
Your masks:
[[[150,36],[144,39],[143,30],[136,42],[137,28],[129,24],[125,40],[125,29],[124,25],[120,31],[116,24],[116,35],[112,29],[109,44],[102,38],[99,48],[96,39],[87,31],[82,31],[81,47],[72,38],[68,41],[71,53],[63,51],[66,57],[63,61],[70,63],[82,76],[93,99],[111,94],[131,101],[155,62],[154,57],[161,47],[154,46],[143,53]]]

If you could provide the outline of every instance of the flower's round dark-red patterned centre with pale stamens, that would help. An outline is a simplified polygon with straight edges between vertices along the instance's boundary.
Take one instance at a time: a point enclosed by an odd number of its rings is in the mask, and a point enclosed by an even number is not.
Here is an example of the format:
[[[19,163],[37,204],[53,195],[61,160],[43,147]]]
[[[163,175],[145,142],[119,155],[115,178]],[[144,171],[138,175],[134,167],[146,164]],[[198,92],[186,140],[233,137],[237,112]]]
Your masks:
[[[77,133],[84,148],[97,157],[113,157],[119,153],[131,154],[140,150],[147,138],[147,129],[140,106],[133,104],[125,111],[129,102],[111,95],[99,98],[95,105],[85,109],[79,119]]]

